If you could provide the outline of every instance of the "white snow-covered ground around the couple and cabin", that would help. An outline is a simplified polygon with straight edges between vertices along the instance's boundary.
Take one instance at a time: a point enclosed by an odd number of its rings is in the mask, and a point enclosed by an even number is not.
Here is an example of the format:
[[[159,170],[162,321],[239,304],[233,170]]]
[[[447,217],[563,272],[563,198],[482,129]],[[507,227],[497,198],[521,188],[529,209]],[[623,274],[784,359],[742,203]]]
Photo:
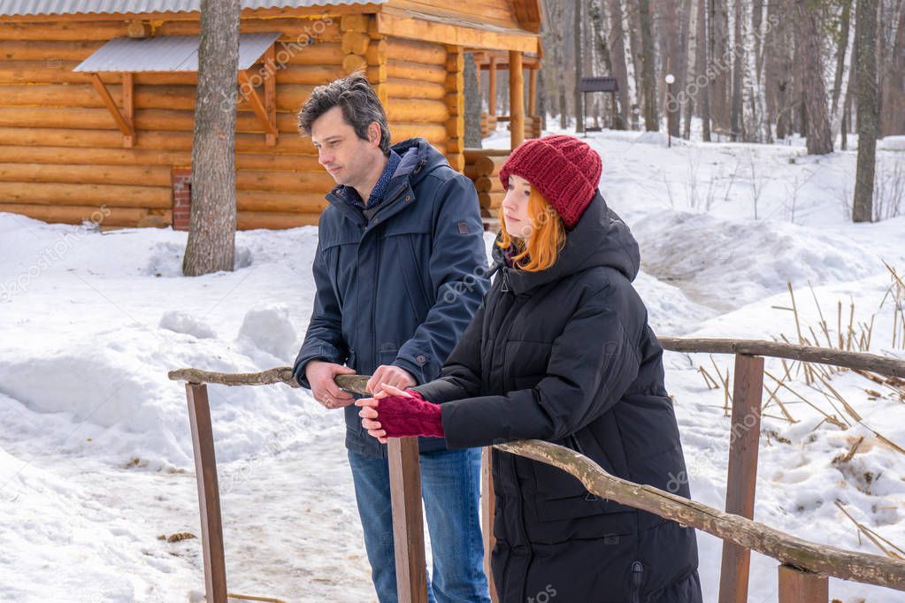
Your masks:
[[[794,316],[782,309],[791,282],[805,333],[810,325],[824,336],[823,312],[835,339],[842,302],[843,327],[853,305],[855,325],[873,319],[871,351],[905,357],[901,337],[891,346],[883,265],[905,272],[905,217],[847,219],[852,152],[816,158],[802,146],[684,141],[666,148],[662,135],[637,132],[587,140],[604,159],[605,198],[641,243],[635,284],[658,334],[795,341]],[[500,131],[488,144],[507,142]],[[881,145],[881,178],[905,165],[896,149]],[[203,598],[200,541],[159,538],[200,533],[185,390],[167,371],[291,363],[310,316],[317,230],[240,232],[240,268],[201,278],[179,276],[185,242],[169,230],[100,233],[0,213],[0,601]],[[725,374],[731,359],[667,353],[665,362],[692,495],[721,508],[729,419],[723,392],[707,388],[699,367]],[[778,377],[783,368],[768,361],[767,371]],[[836,375],[832,387],[858,423],[803,379],[789,385],[814,406],[779,391],[794,424],[778,418],[775,402],[767,406],[757,520],[881,553],[859,539],[838,502],[905,547],[905,455],[876,435],[905,447],[905,404],[858,375]],[[340,413],[282,386],[208,389],[230,591],[376,600]],[[822,422],[822,411],[853,425]],[[861,436],[851,460],[834,463]],[[699,543],[705,600],[715,601],[720,543],[706,534]],[[831,596],[902,599],[840,580]],[[749,600],[776,600],[775,561],[753,556]]]

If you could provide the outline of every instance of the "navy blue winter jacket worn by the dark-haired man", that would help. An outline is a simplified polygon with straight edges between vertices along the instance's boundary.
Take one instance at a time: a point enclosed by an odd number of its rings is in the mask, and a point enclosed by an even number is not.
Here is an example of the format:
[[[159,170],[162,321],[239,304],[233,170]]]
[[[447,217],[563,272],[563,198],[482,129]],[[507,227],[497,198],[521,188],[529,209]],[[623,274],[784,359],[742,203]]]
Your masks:
[[[327,195],[314,259],[317,293],[293,372],[310,388],[312,360],[345,363],[359,374],[395,364],[433,381],[489,287],[477,193],[423,138],[393,146],[402,161],[370,221],[338,187]],[[386,456],[386,446],[346,412],[346,447]],[[421,438],[423,452],[445,448]]]

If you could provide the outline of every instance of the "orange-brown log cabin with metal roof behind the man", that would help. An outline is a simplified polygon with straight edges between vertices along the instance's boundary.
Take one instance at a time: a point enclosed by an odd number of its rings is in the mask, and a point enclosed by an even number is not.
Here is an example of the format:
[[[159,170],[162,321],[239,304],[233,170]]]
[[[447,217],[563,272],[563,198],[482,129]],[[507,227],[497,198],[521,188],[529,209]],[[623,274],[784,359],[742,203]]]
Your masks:
[[[199,6],[0,4],[0,212],[81,223],[103,208],[102,228],[187,229]],[[534,132],[523,70],[539,66],[539,0],[242,0],[242,7],[240,229],[317,223],[333,182],[296,116],[315,86],[352,71],[367,71],[394,141],[424,137],[460,171],[465,52],[479,69],[513,67],[512,145]]]

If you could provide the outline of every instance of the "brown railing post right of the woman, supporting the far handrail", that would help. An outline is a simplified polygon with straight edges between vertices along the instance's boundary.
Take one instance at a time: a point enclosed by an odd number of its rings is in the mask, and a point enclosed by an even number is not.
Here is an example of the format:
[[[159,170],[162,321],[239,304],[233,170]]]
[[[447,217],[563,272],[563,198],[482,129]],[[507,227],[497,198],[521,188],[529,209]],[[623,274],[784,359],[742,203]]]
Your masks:
[[[754,518],[757,485],[757,447],[760,442],[760,402],[764,387],[764,358],[736,355],[729,432],[729,471],[726,478],[726,513]],[[719,570],[719,603],[748,601],[751,551],[723,541]]]

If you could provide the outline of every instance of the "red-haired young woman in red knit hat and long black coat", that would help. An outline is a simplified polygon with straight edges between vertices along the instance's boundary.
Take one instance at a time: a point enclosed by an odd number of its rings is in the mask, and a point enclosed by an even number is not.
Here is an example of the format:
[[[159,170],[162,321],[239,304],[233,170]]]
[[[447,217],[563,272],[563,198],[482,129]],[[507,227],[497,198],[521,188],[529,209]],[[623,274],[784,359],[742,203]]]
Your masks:
[[[449,448],[538,438],[614,476],[689,496],[662,347],[631,281],[638,245],[597,192],[599,155],[567,136],[529,140],[500,170],[500,274],[443,367],[407,391],[358,400],[381,441]],[[590,495],[545,463],[493,451],[503,603],[698,603],[694,532]]]

